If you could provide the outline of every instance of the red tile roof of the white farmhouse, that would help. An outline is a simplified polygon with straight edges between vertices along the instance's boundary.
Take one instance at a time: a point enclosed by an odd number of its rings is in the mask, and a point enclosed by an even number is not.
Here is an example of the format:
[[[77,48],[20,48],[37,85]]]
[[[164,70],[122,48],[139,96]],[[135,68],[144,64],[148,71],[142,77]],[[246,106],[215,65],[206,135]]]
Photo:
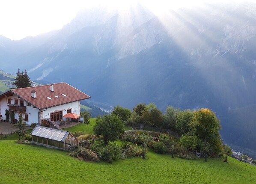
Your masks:
[[[54,92],[50,91],[51,85],[54,85]],[[12,89],[11,91],[38,109],[45,109],[91,98],[67,83],[54,83],[43,86]],[[36,98],[31,97],[31,91],[36,91]],[[51,99],[48,99],[48,97]]]

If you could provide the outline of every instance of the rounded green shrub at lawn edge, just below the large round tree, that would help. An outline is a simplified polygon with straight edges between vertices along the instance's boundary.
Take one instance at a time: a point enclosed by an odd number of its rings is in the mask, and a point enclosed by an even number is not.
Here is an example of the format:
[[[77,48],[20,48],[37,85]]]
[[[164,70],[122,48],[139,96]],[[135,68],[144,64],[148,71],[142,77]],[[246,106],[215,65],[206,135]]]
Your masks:
[[[118,160],[121,157],[121,147],[116,143],[106,145],[106,147],[100,151],[100,156],[101,160],[112,163],[114,160]]]

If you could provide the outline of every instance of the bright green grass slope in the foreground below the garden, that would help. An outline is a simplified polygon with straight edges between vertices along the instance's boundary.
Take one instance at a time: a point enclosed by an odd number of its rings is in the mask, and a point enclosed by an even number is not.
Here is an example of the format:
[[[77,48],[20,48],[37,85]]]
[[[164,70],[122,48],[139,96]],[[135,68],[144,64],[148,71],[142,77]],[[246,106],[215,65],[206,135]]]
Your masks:
[[[201,160],[172,159],[149,152],[113,164],[92,163],[68,156],[65,151],[36,145],[0,141],[0,183],[213,183],[254,184],[256,167],[228,158]]]

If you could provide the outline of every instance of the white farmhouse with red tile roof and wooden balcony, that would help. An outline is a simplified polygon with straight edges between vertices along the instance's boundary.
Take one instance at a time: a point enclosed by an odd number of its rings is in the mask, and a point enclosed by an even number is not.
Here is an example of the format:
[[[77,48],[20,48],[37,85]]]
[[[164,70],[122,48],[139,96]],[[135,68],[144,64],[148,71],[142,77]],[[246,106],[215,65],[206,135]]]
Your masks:
[[[88,98],[91,97],[67,83],[11,89],[0,95],[0,115],[6,119],[9,110],[18,119],[22,114],[27,125],[41,124],[42,118],[57,121],[67,113],[80,115],[80,101]]]

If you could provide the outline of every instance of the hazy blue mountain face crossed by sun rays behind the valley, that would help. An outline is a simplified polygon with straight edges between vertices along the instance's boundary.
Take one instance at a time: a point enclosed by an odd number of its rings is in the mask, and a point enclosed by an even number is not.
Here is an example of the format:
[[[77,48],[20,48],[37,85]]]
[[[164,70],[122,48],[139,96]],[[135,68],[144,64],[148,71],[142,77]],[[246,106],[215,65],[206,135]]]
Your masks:
[[[255,10],[205,4],[155,16],[141,5],[100,7],[30,44],[0,38],[0,62],[9,72],[14,63],[27,68],[33,80],[70,83],[101,103],[211,108],[225,142],[256,150]]]

